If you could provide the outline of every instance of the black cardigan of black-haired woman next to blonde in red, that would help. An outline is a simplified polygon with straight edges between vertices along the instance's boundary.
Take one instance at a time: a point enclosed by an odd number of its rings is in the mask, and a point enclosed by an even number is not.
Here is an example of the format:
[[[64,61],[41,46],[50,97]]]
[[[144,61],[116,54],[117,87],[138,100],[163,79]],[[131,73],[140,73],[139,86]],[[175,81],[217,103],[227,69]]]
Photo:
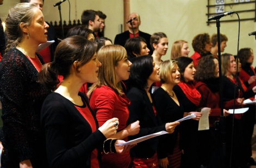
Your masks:
[[[128,106],[130,114],[127,121],[127,125],[140,121],[140,132],[136,135],[129,136],[128,139],[136,139],[157,133],[160,131],[166,131],[165,125],[161,125],[159,115],[155,117],[152,104],[147,96],[146,91],[133,87],[127,94],[127,98],[130,99],[130,106]],[[153,96],[152,96],[153,98]],[[157,152],[158,137],[151,138],[130,149],[130,156],[136,158],[151,158],[155,152]]]

